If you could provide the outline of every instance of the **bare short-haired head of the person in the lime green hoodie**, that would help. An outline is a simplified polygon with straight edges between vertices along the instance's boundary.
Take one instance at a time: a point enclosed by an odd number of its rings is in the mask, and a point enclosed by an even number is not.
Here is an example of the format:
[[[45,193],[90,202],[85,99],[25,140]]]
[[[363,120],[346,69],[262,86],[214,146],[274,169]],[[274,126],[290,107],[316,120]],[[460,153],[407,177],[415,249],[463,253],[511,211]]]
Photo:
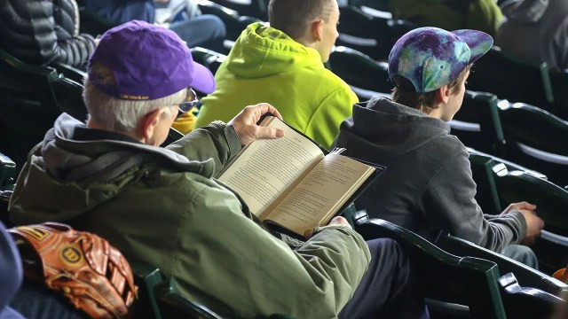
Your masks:
[[[318,51],[323,62],[329,59],[339,36],[337,0],[271,0],[268,21],[296,42]]]

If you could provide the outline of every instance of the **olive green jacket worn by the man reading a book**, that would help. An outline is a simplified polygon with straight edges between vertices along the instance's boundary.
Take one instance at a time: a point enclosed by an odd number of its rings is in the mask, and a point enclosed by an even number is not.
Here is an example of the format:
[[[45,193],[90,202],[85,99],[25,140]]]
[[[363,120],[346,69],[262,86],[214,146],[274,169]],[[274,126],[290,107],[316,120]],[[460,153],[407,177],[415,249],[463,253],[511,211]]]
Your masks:
[[[19,224],[67,222],[174,276],[183,295],[227,317],[334,318],[367,269],[355,231],[325,227],[292,250],[212,176],[241,150],[216,122],[167,149],[75,139],[63,114],[30,152],[10,202]]]

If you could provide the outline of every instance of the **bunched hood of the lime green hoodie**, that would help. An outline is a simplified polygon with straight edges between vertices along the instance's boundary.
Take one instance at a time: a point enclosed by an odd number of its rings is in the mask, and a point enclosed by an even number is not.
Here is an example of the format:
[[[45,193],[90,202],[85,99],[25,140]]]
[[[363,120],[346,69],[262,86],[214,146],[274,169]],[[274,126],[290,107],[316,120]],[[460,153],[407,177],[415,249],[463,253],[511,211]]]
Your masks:
[[[227,69],[243,78],[260,78],[294,72],[307,66],[323,66],[318,51],[297,43],[278,29],[264,26],[263,22],[252,23],[242,31],[227,60]]]

